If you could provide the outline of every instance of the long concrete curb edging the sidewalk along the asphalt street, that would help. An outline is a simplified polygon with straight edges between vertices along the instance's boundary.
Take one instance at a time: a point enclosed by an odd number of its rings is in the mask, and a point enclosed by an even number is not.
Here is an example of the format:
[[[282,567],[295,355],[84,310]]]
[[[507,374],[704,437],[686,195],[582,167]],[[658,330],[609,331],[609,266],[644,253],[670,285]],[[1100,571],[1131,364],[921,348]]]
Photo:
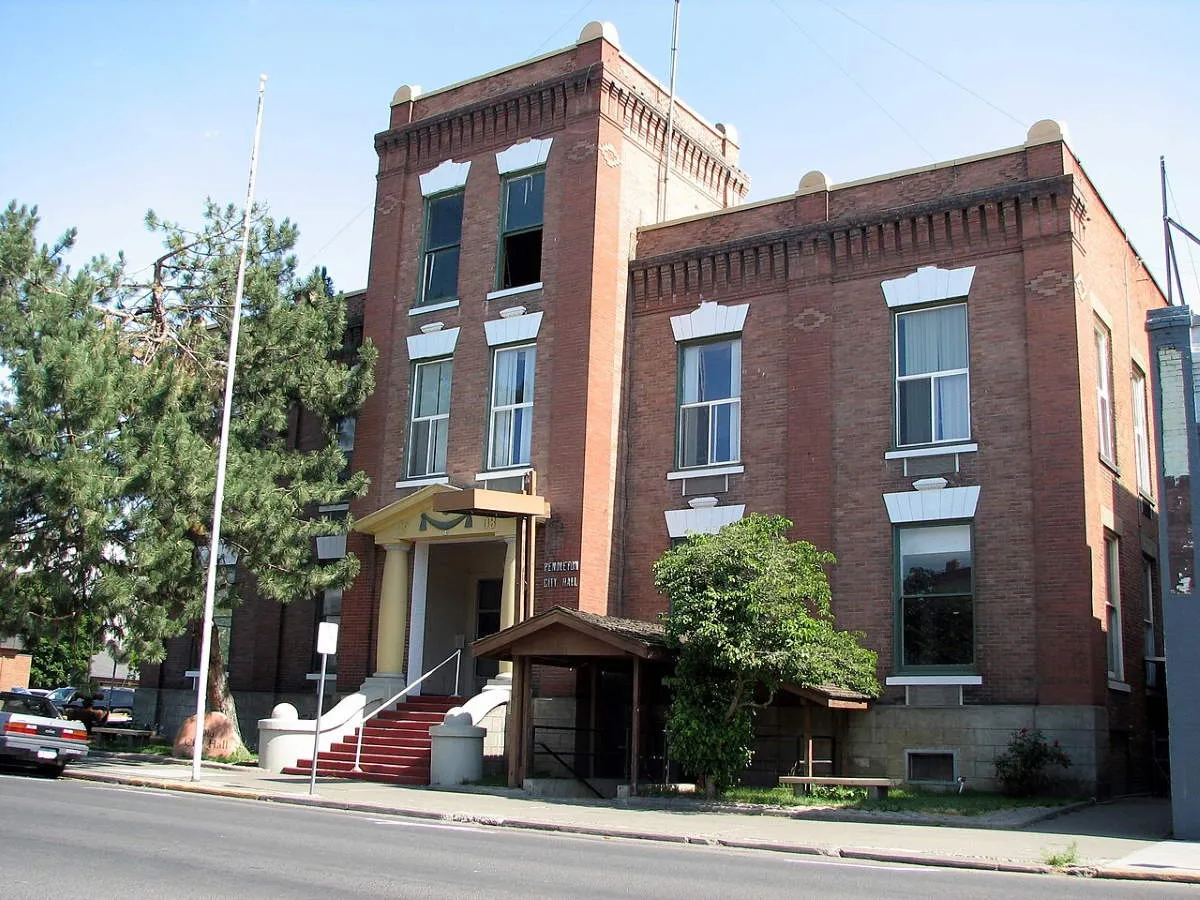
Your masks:
[[[157,757],[155,757],[157,758]],[[208,763],[206,763],[208,764]],[[212,763],[212,767],[239,768]],[[209,794],[232,799],[258,800],[260,803],[280,803],[292,806],[316,806],[322,809],[364,812],[376,816],[400,816],[450,824],[474,824],[488,828],[516,828],[528,832],[546,832],[552,834],[577,834],[590,838],[618,838],[625,840],[654,841],[658,844],[686,844],[730,850],[757,850],[773,853],[792,853],[796,856],[835,857],[841,859],[863,859],[876,863],[895,863],[901,865],[920,865],[940,869],[970,869],[976,871],[1014,872],[1021,875],[1067,874],[1079,877],[1096,877],[1112,881],[1156,881],[1180,884],[1200,884],[1200,872],[1183,870],[1139,870],[1116,866],[1055,869],[1039,863],[1015,863],[996,859],[973,859],[964,857],[935,857],[918,853],[889,853],[882,850],[817,846],[803,844],[780,844],[775,841],[738,840],[725,838],[707,838],[688,834],[666,834],[661,832],[638,832],[619,828],[601,828],[596,826],[539,822],[536,820],[504,818],[503,816],[484,816],[461,812],[436,812],[420,809],[402,809],[398,806],[379,806],[372,803],[352,803],[332,800],[319,794],[272,793],[265,791],[247,791],[236,787],[218,787],[203,782],[161,781],[151,778],[130,775],[106,775],[103,773],[72,772],[67,769],[64,778],[77,781],[95,781],[100,784],[130,785],[160,791],[179,791],[182,793]]]

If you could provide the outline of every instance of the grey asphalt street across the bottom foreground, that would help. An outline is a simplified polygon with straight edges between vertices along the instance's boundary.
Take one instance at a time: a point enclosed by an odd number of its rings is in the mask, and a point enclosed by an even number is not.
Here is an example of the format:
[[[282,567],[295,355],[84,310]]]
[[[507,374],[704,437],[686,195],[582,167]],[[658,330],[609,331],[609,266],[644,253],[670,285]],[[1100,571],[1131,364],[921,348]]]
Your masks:
[[[456,826],[0,774],[0,895],[1194,896],[1109,882]]]

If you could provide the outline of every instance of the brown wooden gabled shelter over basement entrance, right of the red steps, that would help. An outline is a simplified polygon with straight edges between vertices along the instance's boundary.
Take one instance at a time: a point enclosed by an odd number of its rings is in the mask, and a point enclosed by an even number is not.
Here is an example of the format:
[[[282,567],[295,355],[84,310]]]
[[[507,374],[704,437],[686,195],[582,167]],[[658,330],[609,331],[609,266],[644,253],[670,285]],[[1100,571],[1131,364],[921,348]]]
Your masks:
[[[662,626],[556,606],[475,641],[475,658],[512,665],[506,750],[511,787],[535,768],[556,767],[587,784],[620,781],[635,790],[661,769],[662,677],[671,661]],[[533,718],[534,666],[575,672],[575,727],[541,726]],[[569,732],[566,734],[558,732]]]

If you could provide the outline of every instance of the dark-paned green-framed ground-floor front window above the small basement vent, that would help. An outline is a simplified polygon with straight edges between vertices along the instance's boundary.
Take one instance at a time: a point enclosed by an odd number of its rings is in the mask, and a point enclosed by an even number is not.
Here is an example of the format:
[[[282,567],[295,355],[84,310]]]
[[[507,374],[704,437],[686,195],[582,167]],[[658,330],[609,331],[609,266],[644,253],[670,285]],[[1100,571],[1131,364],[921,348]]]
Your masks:
[[[974,665],[971,526],[896,529],[899,661],[908,670]]]

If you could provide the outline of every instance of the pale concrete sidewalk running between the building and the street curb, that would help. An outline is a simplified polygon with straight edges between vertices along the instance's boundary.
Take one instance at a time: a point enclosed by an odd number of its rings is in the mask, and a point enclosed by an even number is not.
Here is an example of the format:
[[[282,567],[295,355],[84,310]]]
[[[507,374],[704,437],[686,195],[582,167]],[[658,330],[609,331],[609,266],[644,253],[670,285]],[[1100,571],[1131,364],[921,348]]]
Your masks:
[[[997,871],[1052,872],[1046,859],[1074,846],[1074,864],[1067,866],[1074,874],[1200,884],[1200,842],[1166,840],[1170,806],[1151,798],[1092,804],[1050,818],[1046,810],[1006,811],[960,826],[930,824],[916,815],[713,809],[655,798],[532,799],[504,790],[324,778],[310,796],[308,779],[299,775],[205,764],[193,781],[185,762],[136,755],[96,754],[68,767],[66,776],[376,815]]]

